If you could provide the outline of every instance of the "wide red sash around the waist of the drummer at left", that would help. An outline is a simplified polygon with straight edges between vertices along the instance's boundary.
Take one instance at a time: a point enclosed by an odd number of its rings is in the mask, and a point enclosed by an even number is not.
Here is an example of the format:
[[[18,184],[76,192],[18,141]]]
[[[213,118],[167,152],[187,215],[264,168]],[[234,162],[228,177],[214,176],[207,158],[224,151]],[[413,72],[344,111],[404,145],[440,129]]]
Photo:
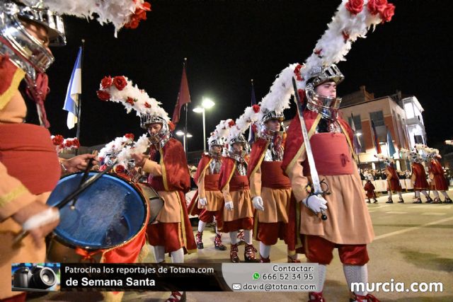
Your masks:
[[[0,124],[0,161],[33,194],[52,191],[62,173],[49,130],[34,124]]]

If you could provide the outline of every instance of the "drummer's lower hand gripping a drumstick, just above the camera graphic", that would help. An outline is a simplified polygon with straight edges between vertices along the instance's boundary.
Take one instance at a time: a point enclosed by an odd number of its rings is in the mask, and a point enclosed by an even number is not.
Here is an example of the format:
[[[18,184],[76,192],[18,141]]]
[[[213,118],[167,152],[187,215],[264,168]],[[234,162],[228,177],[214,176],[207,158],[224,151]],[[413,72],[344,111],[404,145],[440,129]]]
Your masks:
[[[32,202],[26,207],[23,207],[22,209],[16,211],[16,214],[12,216],[12,219],[17,223],[23,225],[23,223],[25,223],[25,221],[28,221],[28,219],[30,219],[32,216],[40,214],[42,213],[42,211],[47,211],[48,209],[50,209],[50,207],[47,206],[47,204],[42,204],[41,202]],[[57,208],[52,208],[52,211],[58,213]],[[37,248],[41,248],[42,245],[44,245],[44,240],[42,240],[42,238],[45,238],[48,233],[50,233],[56,226],[58,226],[58,223],[59,219],[52,219],[52,222],[50,223],[45,223],[42,226],[28,230]]]

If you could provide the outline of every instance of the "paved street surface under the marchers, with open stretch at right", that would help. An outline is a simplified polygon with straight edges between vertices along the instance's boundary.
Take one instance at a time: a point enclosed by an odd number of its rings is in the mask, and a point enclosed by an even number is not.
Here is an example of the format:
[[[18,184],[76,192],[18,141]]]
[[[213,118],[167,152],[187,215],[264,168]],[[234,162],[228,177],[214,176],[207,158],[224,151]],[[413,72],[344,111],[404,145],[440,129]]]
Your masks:
[[[453,193],[450,192],[453,196]],[[381,301],[453,301],[453,204],[412,204],[413,193],[403,194],[404,204],[386,204],[386,196],[369,204],[376,238],[369,245],[369,281],[371,282],[442,282],[443,292],[374,293]],[[394,198],[396,201],[397,199]],[[425,199],[423,199],[425,201]],[[195,228],[194,228],[195,230]],[[213,247],[214,233],[204,233],[205,249],[189,255],[186,262],[228,262],[229,251]],[[223,236],[229,246],[229,238]],[[258,248],[258,244],[255,244]],[[243,259],[243,246],[239,248]],[[303,258],[303,257],[302,257]],[[304,259],[304,258],[303,258]],[[151,252],[147,258],[154,262]],[[286,246],[277,243],[271,250],[272,262],[286,262]],[[168,258],[167,262],[171,262]],[[165,301],[166,292],[126,293],[122,301]],[[86,295],[86,296],[84,296]],[[306,293],[188,293],[188,301],[306,301]],[[324,297],[327,301],[348,301],[348,288],[336,253],[328,267]],[[97,293],[55,293],[33,301],[100,301]]]

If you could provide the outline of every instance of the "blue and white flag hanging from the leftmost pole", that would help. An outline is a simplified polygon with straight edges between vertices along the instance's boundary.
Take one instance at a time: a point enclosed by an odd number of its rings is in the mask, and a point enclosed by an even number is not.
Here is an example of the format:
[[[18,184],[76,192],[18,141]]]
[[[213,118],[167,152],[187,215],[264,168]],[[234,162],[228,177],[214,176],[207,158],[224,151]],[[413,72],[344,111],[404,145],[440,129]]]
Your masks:
[[[77,110],[79,109],[79,94],[82,93],[82,74],[81,74],[82,47],[79,47],[76,64],[72,69],[71,79],[69,79],[66,99],[64,100],[63,109],[68,112],[67,126],[69,129],[74,128],[77,123]]]

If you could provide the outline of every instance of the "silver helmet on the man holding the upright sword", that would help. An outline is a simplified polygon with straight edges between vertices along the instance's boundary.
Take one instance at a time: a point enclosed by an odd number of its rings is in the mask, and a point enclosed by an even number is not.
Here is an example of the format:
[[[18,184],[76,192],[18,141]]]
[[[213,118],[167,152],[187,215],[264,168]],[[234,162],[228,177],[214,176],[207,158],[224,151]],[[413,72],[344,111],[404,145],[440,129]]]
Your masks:
[[[339,84],[345,79],[345,76],[343,76],[336,64],[332,64],[326,67],[315,66],[309,71],[307,77],[305,92],[308,103],[306,107],[311,111],[319,112],[329,120],[336,120],[341,98],[328,98],[319,95],[315,92],[315,88],[328,81],[334,81],[336,84]]]

